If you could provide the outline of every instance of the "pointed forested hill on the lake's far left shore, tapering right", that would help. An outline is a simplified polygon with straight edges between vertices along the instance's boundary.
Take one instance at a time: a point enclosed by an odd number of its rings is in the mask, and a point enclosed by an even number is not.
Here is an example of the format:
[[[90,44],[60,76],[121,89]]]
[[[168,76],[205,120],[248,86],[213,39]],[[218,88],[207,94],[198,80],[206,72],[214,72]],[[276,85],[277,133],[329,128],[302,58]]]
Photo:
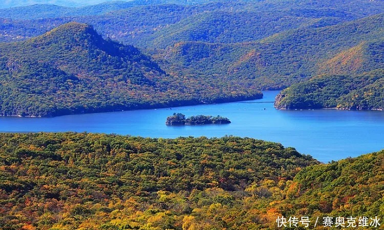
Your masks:
[[[197,83],[167,75],[138,49],[105,40],[77,22],[27,41],[0,43],[2,116],[58,116],[262,96],[223,79],[197,94]]]

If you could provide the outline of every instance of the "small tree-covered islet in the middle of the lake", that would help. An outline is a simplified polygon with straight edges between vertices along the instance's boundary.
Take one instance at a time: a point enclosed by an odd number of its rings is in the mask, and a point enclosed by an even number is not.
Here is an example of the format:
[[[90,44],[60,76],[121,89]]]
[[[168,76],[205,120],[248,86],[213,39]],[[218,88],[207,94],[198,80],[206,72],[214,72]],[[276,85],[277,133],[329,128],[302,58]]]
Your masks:
[[[208,125],[208,124],[229,124],[231,123],[228,118],[221,116],[212,117],[197,115],[185,118],[182,113],[174,113],[173,116],[167,117],[166,125]]]

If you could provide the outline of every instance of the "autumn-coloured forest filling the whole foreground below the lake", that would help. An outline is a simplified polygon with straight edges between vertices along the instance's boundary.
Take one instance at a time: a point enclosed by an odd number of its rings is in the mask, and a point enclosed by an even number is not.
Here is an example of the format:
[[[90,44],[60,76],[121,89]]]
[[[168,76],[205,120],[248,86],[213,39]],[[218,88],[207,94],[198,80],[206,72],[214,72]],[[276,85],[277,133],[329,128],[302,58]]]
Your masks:
[[[0,146],[1,229],[245,230],[276,229],[278,216],[309,216],[311,226],[383,217],[384,151],[324,165],[233,136],[2,133]]]

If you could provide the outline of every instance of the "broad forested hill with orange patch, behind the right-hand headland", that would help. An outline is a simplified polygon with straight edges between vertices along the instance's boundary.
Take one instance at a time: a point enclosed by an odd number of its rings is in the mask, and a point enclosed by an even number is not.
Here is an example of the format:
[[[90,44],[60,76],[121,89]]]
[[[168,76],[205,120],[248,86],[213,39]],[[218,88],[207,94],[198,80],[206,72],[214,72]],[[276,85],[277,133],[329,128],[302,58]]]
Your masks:
[[[357,75],[383,67],[383,14],[320,28],[300,28],[255,42],[186,41],[162,55],[165,69],[224,75],[280,89],[318,74]],[[160,59],[159,59],[160,61]]]

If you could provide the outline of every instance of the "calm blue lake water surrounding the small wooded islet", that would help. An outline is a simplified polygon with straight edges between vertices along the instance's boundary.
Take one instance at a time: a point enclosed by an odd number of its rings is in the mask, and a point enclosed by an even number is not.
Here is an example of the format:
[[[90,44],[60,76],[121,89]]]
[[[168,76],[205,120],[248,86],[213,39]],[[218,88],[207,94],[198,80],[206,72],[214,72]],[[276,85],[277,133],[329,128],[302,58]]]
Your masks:
[[[273,108],[279,91],[264,91],[253,101],[122,112],[92,113],[55,118],[0,118],[0,132],[102,132],[174,138],[178,136],[248,136],[294,147],[322,162],[384,149],[384,112],[349,110],[286,111]],[[221,115],[227,125],[166,126],[174,112],[187,117]]]

